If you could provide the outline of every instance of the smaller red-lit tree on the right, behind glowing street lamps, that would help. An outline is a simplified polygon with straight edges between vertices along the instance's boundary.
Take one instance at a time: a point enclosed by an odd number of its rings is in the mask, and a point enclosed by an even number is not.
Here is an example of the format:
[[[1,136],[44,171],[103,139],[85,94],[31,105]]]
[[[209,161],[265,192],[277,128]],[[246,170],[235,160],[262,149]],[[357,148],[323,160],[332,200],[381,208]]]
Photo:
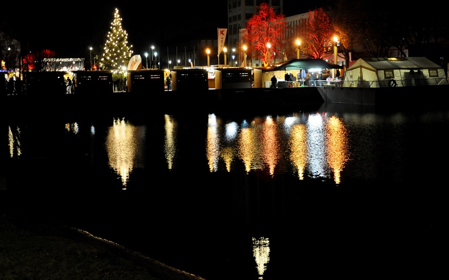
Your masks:
[[[308,23],[305,26],[305,44],[301,50],[311,58],[323,58],[332,50],[333,27],[331,20],[322,8],[309,11]]]

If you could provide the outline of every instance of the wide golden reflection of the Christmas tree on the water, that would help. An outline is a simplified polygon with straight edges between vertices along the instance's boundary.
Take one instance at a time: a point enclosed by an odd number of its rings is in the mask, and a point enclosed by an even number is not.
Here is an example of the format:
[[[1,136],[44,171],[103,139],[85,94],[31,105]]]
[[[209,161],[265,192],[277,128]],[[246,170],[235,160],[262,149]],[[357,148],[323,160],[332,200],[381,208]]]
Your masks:
[[[145,128],[137,127],[125,121],[125,119],[113,120],[106,137],[106,149],[109,157],[109,165],[120,176],[123,189],[129,180],[129,175],[134,167],[139,165],[139,160],[145,153],[144,147]]]

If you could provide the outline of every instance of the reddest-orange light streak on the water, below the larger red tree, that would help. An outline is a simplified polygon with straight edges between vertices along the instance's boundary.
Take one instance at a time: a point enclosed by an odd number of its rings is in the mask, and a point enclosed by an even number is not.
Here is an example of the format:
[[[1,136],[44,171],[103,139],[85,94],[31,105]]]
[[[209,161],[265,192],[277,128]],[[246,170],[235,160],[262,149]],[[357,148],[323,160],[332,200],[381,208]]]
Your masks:
[[[277,126],[271,116],[263,123],[262,131],[263,159],[268,164],[270,175],[273,176],[279,157],[279,147],[277,141]]]

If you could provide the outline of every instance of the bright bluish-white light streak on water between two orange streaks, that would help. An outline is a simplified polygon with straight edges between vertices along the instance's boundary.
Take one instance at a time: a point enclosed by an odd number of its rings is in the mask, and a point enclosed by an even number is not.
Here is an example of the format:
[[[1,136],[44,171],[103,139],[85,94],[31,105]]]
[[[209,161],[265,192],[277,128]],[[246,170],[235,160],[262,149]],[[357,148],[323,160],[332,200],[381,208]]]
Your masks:
[[[326,177],[325,173],[325,116],[316,113],[307,120],[308,169],[314,177]],[[329,177],[329,175],[327,176]]]

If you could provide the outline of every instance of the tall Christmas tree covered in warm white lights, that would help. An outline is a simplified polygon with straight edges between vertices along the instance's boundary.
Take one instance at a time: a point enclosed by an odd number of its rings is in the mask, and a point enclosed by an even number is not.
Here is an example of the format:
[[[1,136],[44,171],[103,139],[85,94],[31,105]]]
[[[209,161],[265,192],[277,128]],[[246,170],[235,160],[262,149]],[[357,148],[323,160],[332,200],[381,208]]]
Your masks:
[[[111,31],[108,32],[108,39],[105,43],[103,57],[99,62],[103,70],[116,70],[125,66],[125,61],[129,61],[133,51],[132,45],[128,46],[128,34],[121,28],[121,18],[118,9],[115,9],[114,21]]]

